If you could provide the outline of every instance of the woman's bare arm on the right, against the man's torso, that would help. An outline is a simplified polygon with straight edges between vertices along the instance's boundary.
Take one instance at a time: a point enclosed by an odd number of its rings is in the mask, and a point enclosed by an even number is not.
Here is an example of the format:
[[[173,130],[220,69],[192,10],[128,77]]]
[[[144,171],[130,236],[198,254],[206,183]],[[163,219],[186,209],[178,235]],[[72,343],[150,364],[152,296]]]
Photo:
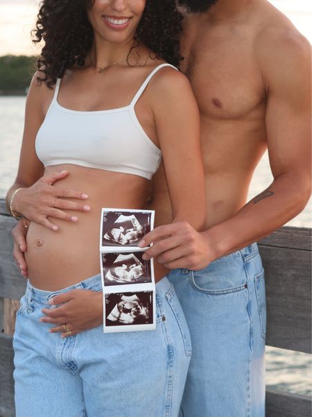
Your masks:
[[[182,73],[169,67],[156,76],[153,113],[173,222],[187,221],[201,230],[205,227],[206,200],[198,105]]]

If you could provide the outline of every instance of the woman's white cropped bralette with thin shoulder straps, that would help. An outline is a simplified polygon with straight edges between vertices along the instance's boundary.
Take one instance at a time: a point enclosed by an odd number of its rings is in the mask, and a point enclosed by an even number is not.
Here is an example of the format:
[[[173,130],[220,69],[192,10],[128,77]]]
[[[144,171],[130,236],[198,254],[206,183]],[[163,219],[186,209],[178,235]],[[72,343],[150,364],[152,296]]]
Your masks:
[[[130,105],[112,110],[80,112],[62,107],[58,103],[58,78],[53,101],[35,139],[35,151],[44,167],[76,164],[131,173],[150,180],[159,167],[162,154],[139,123],[135,104],[162,67],[173,66],[156,67]]]

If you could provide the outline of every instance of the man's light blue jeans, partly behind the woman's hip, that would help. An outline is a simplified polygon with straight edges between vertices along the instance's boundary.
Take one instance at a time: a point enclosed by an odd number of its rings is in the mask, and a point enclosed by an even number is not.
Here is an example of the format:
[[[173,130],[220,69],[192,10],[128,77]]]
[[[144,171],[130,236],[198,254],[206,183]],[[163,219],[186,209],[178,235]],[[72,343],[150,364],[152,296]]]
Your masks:
[[[193,345],[180,416],[264,417],[266,294],[257,245],[168,279]]]

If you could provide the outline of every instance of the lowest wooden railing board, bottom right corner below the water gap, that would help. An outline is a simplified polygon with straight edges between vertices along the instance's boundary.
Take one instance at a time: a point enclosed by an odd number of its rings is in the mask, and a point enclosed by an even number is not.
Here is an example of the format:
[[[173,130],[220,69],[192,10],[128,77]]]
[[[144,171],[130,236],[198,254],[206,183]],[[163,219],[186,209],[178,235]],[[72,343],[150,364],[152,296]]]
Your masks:
[[[311,417],[311,398],[306,395],[267,390],[266,417]]]

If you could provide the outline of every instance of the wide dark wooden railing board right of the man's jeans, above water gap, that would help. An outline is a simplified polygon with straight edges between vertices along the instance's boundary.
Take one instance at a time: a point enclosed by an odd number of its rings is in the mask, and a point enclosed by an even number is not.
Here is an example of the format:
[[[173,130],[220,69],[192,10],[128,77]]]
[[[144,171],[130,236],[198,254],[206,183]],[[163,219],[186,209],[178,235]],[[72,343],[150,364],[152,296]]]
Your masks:
[[[311,252],[260,246],[269,346],[311,353]]]

